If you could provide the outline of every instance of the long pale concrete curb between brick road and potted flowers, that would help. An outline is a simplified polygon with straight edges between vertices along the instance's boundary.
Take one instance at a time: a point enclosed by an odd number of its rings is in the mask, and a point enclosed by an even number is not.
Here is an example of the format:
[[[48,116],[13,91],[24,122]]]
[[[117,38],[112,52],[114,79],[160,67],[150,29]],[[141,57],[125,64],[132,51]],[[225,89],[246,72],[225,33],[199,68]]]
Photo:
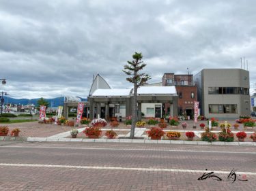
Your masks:
[[[17,137],[27,138],[28,142],[87,142],[87,143],[150,143],[150,144],[176,144],[176,145],[234,145],[256,146],[254,142],[221,142],[212,143],[205,141],[182,141],[182,140],[151,140],[151,139],[72,139],[72,138],[47,138],[47,137]],[[0,139],[1,140],[1,139]]]

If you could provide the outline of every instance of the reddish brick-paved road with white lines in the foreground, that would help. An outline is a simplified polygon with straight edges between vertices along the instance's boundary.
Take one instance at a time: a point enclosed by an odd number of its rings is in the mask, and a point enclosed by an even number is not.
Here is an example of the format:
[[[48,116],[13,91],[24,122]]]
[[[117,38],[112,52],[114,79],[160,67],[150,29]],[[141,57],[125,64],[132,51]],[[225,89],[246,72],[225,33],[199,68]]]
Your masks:
[[[255,147],[0,142],[0,190],[255,188]]]

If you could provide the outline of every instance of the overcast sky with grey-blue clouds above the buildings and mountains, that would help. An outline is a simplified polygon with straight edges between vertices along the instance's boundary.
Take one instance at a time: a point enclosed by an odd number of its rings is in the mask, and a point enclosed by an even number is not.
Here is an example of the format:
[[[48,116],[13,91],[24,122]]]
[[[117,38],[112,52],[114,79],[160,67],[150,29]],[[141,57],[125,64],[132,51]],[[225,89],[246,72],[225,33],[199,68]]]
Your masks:
[[[150,83],[163,73],[240,68],[256,82],[256,1],[0,0],[0,78],[14,98],[87,97],[93,74],[122,72],[142,52]],[[243,65],[244,67],[244,65]]]

